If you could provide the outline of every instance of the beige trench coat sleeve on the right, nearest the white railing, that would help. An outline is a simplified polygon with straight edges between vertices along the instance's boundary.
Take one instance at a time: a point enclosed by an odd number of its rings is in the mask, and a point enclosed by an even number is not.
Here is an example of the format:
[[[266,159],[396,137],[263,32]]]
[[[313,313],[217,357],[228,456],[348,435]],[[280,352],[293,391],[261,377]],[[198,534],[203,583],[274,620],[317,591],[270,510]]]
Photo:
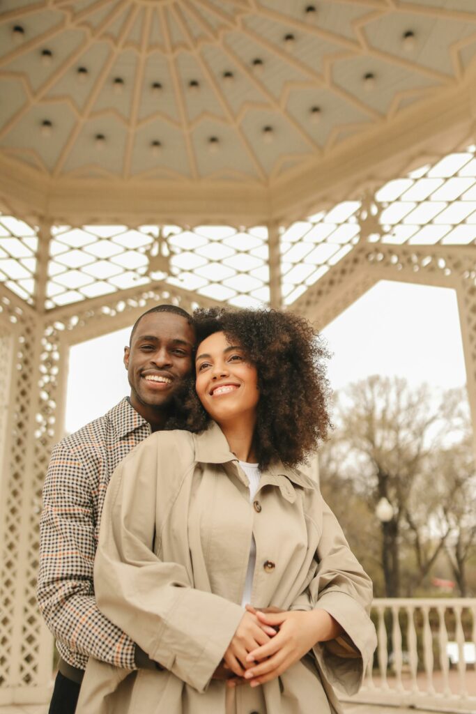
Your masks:
[[[377,645],[369,616],[372,581],[350,550],[337,518],[322,496],[320,499],[318,569],[304,597],[310,599],[312,608],[326,610],[344,630],[339,638],[315,645],[313,651],[328,682],[350,695],[360,688]],[[296,604],[293,603],[293,609]]]

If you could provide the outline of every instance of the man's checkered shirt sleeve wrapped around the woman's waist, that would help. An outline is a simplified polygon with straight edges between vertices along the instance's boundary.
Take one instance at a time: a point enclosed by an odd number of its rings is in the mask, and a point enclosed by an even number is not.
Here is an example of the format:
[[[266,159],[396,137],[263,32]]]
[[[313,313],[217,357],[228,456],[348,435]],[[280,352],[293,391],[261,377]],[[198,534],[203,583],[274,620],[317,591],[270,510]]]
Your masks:
[[[69,664],[84,669],[92,656],[136,669],[136,645],[94,597],[95,515],[85,458],[61,443],[51,456],[40,521],[39,608]]]

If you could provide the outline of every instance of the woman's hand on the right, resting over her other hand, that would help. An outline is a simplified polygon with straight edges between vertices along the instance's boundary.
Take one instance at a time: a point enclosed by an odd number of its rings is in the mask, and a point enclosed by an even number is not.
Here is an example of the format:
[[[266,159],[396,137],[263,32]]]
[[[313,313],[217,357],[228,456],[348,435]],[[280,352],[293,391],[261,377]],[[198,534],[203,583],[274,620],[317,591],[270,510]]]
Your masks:
[[[290,668],[318,642],[333,640],[342,632],[340,625],[325,610],[256,612],[262,625],[278,627],[272,640],[251,650],[246,657],[243,677],[252,687],[269,682]],[[258,664],[253,664],[258,662]]]

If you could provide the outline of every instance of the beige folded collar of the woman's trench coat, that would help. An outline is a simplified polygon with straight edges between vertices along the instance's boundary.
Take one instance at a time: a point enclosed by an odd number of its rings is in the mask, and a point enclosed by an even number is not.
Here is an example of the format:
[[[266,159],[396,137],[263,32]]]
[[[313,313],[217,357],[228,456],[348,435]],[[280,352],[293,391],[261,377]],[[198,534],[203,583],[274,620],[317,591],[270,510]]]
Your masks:
[[[238,464],[238,458],[236,458],[234,453],[231,453],[228,441],[226,441],[223,431],[221,431],[221,428],[216,422],[212,421],[206,431],[193,434],[193,441],[195,442],[195,458],[198,463],[226,464],[234,462]],[[275,486],[279,486],[283,496],[291,496],[290,491],[285,488],[283,476],[295,486],[311,489],[317,488],[317,483],[315,483],[312,478],[295,468],[284,466],[281,461],[271,463],[270,466],[263,471],[263,477],[267,483],[274,483]],[[248,483],[246,483],[246,486],[248,486]],[[291,499],[288,498],[288,500]],[[294,501],[294,498],[292,498],[292,500]]]

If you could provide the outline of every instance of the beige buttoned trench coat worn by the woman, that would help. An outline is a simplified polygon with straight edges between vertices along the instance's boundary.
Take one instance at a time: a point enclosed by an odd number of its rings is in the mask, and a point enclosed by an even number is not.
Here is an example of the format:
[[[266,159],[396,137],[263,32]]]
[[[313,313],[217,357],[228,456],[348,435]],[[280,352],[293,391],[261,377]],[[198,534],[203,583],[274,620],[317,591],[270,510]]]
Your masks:
[[[316,645],[277,680],[228,690],[211,677],[243,615],[252,535],[252,604],[324,608],[346,635]],[[216,424],[198,435],[153,433],[116,468],[94,583],[103,613],[164,670],[91,658],[77,714],[340,711],[333,685],[355,692],[375,649],[370,579],[317,484],[278,464],[263,472],[251,505],[248,478]]]

